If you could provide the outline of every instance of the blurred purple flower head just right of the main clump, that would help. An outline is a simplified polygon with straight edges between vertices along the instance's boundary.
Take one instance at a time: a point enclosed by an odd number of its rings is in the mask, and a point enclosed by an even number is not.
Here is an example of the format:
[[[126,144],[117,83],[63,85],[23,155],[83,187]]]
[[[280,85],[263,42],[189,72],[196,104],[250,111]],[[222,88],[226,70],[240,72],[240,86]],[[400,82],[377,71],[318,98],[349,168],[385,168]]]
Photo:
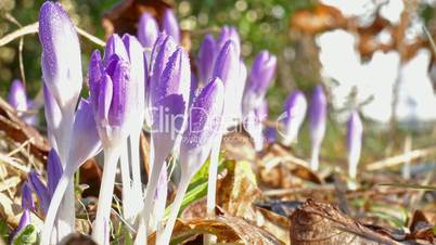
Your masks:
[[[249,89],[257,94],[265,94],[271,85],[277,67],[277,57],[268,51],[260,51],[249,73]]]

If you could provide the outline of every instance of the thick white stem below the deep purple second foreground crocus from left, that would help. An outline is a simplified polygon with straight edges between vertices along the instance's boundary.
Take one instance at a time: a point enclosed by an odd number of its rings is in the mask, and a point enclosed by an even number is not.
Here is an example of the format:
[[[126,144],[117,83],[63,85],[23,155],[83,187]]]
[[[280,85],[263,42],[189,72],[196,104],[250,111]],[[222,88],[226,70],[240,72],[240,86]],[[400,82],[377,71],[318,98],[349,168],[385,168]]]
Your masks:
[[[108,245],[108,221],[111,219],[112,196],[114,194],[115,173],[120,155],[120,145],[104,147],[104,169],[100,186],[99,206],[92,225],[92,238],[102,245]]]

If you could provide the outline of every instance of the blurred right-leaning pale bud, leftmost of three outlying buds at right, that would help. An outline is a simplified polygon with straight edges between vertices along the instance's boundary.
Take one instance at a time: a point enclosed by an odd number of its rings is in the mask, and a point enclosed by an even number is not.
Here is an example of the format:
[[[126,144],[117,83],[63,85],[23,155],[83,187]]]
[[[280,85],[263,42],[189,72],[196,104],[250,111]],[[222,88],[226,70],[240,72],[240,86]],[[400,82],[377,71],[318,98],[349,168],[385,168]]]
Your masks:
[[[298,131],[305,120],[306,111],[305,94],[299,90],[292,92],[284,103],[283,144],[290,145],[298,140]]]

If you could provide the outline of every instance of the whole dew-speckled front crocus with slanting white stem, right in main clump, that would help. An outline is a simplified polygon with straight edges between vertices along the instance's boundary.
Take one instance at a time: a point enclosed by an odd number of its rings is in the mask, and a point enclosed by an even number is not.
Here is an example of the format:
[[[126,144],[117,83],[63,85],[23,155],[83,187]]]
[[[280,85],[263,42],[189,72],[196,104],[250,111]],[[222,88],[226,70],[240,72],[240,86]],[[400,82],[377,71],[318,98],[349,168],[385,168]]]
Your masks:
[[[194,100],[180,146],[181,180],[171,215],[157,244],[169,243],[177,214],[191,178],[206,160],[220,130],[223,100],[225,88],[219,78],[214,78]]]

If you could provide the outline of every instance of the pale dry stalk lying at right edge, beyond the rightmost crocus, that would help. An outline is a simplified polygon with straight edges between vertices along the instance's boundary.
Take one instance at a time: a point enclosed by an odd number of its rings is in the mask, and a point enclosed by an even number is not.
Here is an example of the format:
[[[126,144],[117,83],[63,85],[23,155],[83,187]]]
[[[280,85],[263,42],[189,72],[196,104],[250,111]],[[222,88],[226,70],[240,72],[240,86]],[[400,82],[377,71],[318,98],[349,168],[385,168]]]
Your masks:
[[[413,159],[416,159],[416,158],[421,158],[421,157],[432,155],[434,153],[436,153],[436,146],[431,146],[431,147],[421,149],[421,150],[414,150],[414,151],[411,151],[411,152],[406,153],[406,154],[388,157],[388,158],[385,158],[383,160],[379,160],[379,162],[369,164],[369,165],[367,165],[366,168],[367,168],[368,171],[375,171],[375,170],[380,170],[380,169],[384,169],[384,168],[400,165],[400,164],[402,164],[405,162],[405,159],[413,160]]]

